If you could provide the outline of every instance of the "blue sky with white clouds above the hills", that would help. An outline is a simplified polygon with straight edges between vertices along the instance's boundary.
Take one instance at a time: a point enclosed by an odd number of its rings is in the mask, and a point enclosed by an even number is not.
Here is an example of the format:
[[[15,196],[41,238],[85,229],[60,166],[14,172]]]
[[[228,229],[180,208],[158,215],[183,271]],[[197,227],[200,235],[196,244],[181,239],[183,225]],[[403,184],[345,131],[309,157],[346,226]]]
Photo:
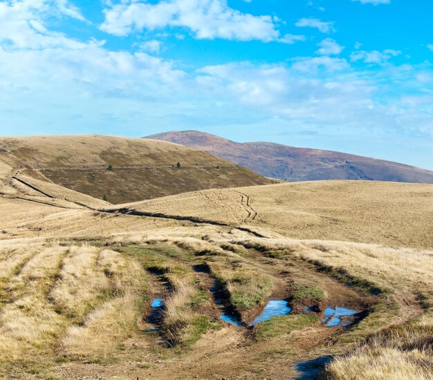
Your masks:
[[[433,170],[433,1],[0,0],[0,135],[196,129]]]

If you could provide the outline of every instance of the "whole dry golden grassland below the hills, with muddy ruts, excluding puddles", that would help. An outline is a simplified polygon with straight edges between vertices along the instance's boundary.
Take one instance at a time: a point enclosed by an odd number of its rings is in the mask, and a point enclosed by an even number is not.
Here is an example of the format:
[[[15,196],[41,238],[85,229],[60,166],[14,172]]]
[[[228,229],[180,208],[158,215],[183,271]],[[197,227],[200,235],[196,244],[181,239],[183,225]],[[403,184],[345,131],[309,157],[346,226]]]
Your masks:
[[[0,377],[292,379],[332,356],[330,379],[433,378],[431,185],[273,184],[114,206],[18,178],[0,194]],[[269,300],[291,314],[250,325]],[[326,327],[328,307],[359,313]]]

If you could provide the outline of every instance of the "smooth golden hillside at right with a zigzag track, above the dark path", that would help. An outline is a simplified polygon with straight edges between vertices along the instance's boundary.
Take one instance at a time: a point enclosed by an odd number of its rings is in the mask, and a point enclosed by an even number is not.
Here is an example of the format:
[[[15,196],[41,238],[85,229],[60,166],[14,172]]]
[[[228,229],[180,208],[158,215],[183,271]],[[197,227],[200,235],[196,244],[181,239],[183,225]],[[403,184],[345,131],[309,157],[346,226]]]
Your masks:
[[[292,238],[433,247],[430,184],[302,182],[199,191],[127,207],[246,224]]]

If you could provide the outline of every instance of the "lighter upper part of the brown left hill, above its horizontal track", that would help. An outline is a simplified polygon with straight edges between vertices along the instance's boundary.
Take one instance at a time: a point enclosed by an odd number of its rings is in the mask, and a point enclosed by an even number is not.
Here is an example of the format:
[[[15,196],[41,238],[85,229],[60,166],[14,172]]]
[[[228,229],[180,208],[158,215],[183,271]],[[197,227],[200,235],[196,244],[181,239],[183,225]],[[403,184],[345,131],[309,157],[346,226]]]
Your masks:
[[[104,167],[107,160],[113,165],[173,164],[173,160],[196,164],[214,157],[169,142],[102,135],[1,137],[0,146],[6,151],[1,162],[10,167]]]

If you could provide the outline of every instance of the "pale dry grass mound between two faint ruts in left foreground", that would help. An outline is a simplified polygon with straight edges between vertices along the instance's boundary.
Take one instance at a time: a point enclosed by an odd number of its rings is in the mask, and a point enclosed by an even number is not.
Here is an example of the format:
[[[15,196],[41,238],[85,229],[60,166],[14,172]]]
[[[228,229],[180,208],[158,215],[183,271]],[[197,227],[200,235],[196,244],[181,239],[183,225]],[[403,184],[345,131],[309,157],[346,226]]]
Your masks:
[[[50,292],[57,311],[77,323],[107,298],[111,290],[104,268],[98,267],[99,256],[100,250],[95,247],[71,247]]]

